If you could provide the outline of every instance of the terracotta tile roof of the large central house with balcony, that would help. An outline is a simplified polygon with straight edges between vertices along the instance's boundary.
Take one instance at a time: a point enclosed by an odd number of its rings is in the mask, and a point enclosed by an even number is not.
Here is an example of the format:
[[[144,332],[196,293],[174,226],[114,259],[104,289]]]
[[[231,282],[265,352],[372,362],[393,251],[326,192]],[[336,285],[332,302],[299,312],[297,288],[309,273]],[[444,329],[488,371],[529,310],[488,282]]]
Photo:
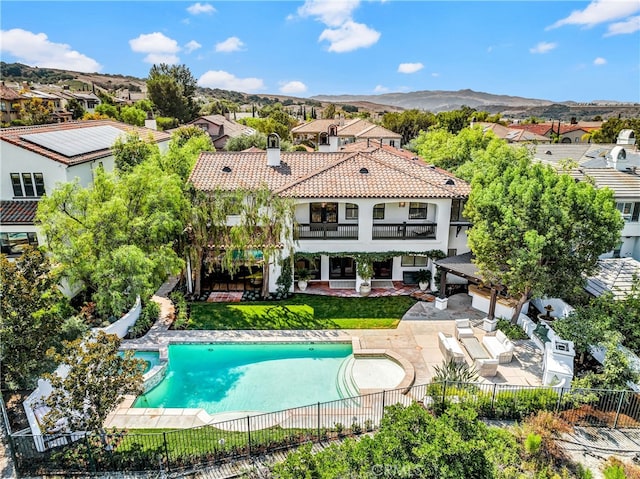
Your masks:
[[[469,194],[466,182],[392,150],[282,152],[279,167],[267,165],[265,152],[207,152],[200,155],[190,181],[204,191],[266,184],[294,198],[464,198]]]

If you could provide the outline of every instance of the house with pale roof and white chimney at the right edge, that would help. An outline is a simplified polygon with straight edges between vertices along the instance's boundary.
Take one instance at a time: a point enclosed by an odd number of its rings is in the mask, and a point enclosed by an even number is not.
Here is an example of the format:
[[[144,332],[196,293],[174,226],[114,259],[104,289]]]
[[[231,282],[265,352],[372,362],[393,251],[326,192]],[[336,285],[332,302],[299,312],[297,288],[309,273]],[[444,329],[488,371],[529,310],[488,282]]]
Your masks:
[[[568,171],[577,180],[613,190],[625,225],[618,246],[603,257],[630,256],[640,260],[640,152],[629,144],[634,138],[623,132],[622,140],[627,142],[624,146],[558,143],[538,145],[533,154],[539,161]]]

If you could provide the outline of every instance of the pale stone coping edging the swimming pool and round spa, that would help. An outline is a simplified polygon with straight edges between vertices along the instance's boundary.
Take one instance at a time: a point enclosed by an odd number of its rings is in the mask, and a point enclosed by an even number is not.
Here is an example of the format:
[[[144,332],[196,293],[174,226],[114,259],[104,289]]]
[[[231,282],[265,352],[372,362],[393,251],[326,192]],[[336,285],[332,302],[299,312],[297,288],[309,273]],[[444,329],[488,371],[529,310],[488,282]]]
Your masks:
[[[208,335],[207,335],[208,336]],[[406,394],[415,381],[415,368],[410,361],[402,357],[397,352],[390,349],[365,349],[362,348],[360,338],[351,335],[340,335],[339,337],[322,337],[318,338],[314,335],[313,338],[304,337],[304,334],[299,338],[281,338],[277,336],[259,336],[258,338],[251,340],[249,338],[225,338],[222,340],[212,340],[209,337],[194,337],[194,338],[171,338],[166,341],[162,341],[160,344],[136,344],[135,341],[123,342],[121,350],[137,350],[137,351],[158,351],[160,364],[151,368],[144,375],[144,391],[149,391],[155,387],[163,378],[166,368],[168,366],[168,351],[169,346],[172,344],[203,344],[203,343],[218,343],[218,344],[286,344],[286,343],[351,343],[354,358],[386,358],[403,368],[405,375],[402,381],[398,383],[394,390],[401,390],[402,394]],[[360,396],[367,394],[382,392],[383,388],[376,389],[363,389],[358,387]],[[123,428],[123,429],[188,429],[192,427],[215,425],[224,421],[229,421],[237,418],[245,418],[248,416],[260,416],[270,414],[274,418],[274,424],[276,425],[281,421],[284,421],[288,416],[287,411],[226,411],[216,414],[209,414],[201,408],[134,408],[133,403],[137,396],[127,395],[124,400],[118,405],[118,407],[109,414],[105,421],[105,427],[111,428]],[[348,398],[344,398],[348,399]],[[302,406],[304,407],[304,406]],[[281,420],[276,420],[282,416]]]

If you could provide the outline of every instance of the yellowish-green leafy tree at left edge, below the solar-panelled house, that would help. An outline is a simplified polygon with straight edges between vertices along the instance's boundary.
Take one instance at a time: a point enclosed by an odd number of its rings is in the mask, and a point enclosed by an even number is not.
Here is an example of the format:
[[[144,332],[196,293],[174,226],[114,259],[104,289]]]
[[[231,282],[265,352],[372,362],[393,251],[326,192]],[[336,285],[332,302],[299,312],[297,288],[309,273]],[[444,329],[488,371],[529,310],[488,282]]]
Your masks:
[[[56,346],[70,307],[58,275],[38,249],[15,261],[0,255],[0,361],[2,388],[22,389],[51,367],[45,352]]]

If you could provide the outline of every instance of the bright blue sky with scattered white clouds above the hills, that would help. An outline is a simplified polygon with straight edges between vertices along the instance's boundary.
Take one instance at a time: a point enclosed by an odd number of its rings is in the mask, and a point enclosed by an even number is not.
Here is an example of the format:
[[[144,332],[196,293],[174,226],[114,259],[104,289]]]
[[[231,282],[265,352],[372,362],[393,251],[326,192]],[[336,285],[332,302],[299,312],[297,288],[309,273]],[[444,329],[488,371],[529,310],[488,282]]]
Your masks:
[[[470,88],[640,102],[640,1],[16,1],[5,62],[146,77],[189,67],[247,93]]]

